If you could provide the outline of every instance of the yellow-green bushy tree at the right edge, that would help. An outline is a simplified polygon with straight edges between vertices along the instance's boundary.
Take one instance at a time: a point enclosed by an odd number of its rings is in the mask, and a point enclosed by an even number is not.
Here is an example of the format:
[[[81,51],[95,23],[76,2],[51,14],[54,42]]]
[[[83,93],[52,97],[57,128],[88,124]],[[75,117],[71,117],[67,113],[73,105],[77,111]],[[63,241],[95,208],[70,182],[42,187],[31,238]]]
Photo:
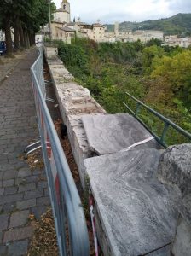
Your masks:
[[[191,107],[191,50],[183,50],[177,55],[155,58],[151,77],[155,87],[163,84],[163,90],[171,90],[188,108]],[[161,87],[160,87],[161,88]],[[166,97],[166,96],[165,96]]]

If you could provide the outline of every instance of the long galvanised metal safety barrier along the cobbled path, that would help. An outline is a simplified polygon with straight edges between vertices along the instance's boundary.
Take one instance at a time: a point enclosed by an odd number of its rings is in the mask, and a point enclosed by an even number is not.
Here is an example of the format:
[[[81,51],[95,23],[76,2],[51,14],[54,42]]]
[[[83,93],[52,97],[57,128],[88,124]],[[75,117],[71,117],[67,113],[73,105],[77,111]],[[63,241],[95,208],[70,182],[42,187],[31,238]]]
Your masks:
[[[45,102],[42,65],[43,50],[40,49],[31,67],[32,87],[59,251],[61,256],[88,256],[90,246],[84,210]]]

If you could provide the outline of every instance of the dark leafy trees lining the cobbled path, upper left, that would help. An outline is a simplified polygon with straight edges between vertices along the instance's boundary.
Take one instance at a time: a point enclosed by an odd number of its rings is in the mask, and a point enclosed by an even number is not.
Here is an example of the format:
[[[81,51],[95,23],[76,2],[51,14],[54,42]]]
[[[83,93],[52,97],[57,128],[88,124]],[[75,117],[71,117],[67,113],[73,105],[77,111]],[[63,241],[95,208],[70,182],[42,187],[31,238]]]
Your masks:
[[[55,4],[50,3],[51,12]],[[11,27],[14,27],[15,49],[28,49],[35,44],[35,33],[49,22],[49,7],[46,0],[3,0],[0,5],[0,28],[6,35],[7,54],[13,54]],[[20,44],[19,44],[20,40]]]

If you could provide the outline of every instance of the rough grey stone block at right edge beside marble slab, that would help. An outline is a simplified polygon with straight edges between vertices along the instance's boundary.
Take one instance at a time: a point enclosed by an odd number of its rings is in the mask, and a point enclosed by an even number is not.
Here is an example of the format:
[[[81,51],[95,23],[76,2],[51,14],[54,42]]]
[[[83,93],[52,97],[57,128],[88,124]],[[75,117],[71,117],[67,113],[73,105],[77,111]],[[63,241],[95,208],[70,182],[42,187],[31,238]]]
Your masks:
[[[165,150],[159,160],[158,178],[162,183],[171,184],[182,193],[177,204],[189,225],[191,225],[191,143],[174,145]]]

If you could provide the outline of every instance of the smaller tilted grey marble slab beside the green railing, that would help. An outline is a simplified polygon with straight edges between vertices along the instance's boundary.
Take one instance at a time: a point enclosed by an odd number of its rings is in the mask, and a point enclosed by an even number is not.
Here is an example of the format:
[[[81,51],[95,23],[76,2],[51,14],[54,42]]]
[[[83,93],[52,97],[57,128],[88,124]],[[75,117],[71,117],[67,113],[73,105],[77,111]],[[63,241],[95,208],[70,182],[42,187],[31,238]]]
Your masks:
[[[130,147],[152,135],[130,114],[117,113],[106,116],[82,118],[90,149],[96,154],[112,154]],[[153,139],[137,148],[160,148]]]

